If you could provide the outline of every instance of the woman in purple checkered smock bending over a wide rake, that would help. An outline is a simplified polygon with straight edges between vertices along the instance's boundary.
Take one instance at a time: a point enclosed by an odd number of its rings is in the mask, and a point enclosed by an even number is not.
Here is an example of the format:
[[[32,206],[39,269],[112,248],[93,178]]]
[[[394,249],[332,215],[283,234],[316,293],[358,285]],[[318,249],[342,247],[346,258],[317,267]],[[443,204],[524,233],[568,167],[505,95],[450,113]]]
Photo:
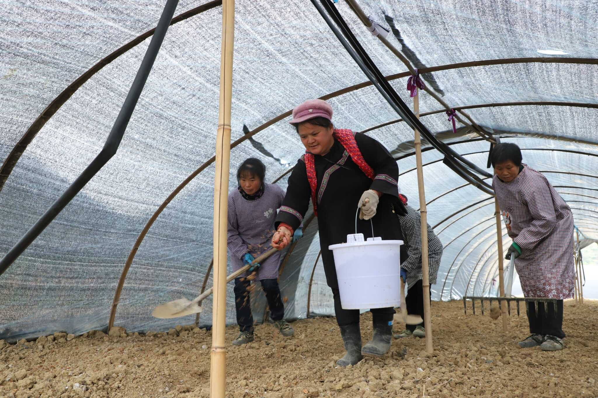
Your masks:
[[[496,193],[502,218],[513,240],[507,260],[515,257],[525,297],[555,298],[556,306],[529,306],[527,317],[532,335],[521,348],[540,345],[544,351],[562,350],[563,299],[573,297],[573,214],[565,200],[544,175],[521,163],[521,150],[512,143],[492,150]]]

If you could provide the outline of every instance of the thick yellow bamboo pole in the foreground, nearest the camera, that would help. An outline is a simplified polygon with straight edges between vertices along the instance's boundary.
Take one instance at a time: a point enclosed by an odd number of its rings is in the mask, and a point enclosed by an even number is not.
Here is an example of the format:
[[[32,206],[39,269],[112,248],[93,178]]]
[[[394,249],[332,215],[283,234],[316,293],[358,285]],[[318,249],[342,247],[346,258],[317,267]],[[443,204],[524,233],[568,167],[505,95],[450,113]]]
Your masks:
[[[214,182],[213,310],[210,397],[222,398],[226,391],[226,277],[228,172],[230,169],[230,113],[233,95],[234,0],[222,1],[222,48],[220,57],[220,101],[216,134],[216,178]]]

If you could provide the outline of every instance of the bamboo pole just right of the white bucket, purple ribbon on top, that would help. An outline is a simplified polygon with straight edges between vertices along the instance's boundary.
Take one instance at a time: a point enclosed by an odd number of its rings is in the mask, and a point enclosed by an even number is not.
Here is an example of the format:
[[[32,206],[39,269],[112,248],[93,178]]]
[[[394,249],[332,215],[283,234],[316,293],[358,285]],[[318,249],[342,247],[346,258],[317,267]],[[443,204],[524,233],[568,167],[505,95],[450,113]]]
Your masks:
[[[419,119],[419,92],[413,97],[413,113]],[[432,317],[430,314],[430,276],[428,269],[428,210],[426,193],[423,190],[422,140],[419,131],[414,130],[415,156],[417,165],[417,189],[419,190],[419,212],[422,215],[422,288],[423,288],[423,326],[426,329],[426,351],[432,353]],[[404,306],[405,303],[401,303]]]

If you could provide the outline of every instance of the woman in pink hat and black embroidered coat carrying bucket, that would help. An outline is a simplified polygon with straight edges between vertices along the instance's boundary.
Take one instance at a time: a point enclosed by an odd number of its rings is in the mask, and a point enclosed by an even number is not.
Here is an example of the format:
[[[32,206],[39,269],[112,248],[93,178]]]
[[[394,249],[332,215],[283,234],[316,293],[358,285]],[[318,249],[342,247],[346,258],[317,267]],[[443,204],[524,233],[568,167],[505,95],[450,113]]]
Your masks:
[[[407,214],[399,198],[396,161],[378,141],[349,129],[335,129],[332,107],[322,100],[309,100],[295,107],[291,124],[297,129],[306,153],[289,177],[285,199],[276,218],[272,245],[284,248],[291,242],[312,200],[318,215],[320,246],[328,286],[334,295],[334,311],[347,353],[337,365],[354,365],[362,355],[383,356],[390,349],[395,310],[371,308],[374,335],[361,346],[359,310],[341,307],[334,257],[329,245],[343,243],[355,233],[355,210],[361,208],[358,232],[402,239],[398,214]],[[368,233],[370,232],[370,233]],[[406,253],[401,248],[401,260]],[[372,264],[364,264],[364,267]]]

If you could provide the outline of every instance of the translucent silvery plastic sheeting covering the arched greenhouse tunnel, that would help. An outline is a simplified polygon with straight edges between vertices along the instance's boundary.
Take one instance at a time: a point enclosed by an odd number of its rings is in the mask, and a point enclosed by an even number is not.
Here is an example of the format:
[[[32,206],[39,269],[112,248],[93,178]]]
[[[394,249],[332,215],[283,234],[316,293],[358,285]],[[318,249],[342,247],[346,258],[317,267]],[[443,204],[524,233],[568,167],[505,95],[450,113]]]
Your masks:
[[[389,40],[416,67],[493,58],[596,58],[596,2],[483,0],[472,2],[360,1],[366,13],[398,29]],[[197,7],[180,1],[177,14]],[[51,100],[100,59],[154,27],[163,1],[20,1],[0,10],[0,159],[4,161]],[[385,75],[404,65],[373,38],[344,2],[336,7]],[[386,16],[385,16],[386,14]],[[300,16],[300,17],[298,17]],[[0,338],[74,334],[105,328],[112,298],[133,242],[155,209],[191,172],[213,156],[218,116],[221,7],[170,27],[117,155],[90,181],[10,269],[0,276]],[[400,35],[400,41],[399,41]],[[80,174],[101,149],[149,39],[93,75],[50,118],[29,144],[0,191],[0,254],[4,254]],[[319,14],[305,1],[236,1],[233,140],[242,125],[259,127],[307,98],[364,82]],[[558,57],[559,55],[555,55]],[[572,79],[575,76],[575,79]],[[569,101],[596,105],[596,68],[572,63],[518,63],[435,72],[427,85],[451,106],[520,101]],[[582,82],[582,84],[581,84]],[[404,95],[406,79],[392,85]],[[371,86],[329,100],[334,123],[355,131],[398,118]],[[421,112],[441,109],[420,95]],[[568,200],[582,239],[598,239],[597,110],[570,106],[502,106],[468,110],[503,141],[523,149],[524,162],[545,172]],[[245,158],[266,163],[267,180],[303,153],[288,119],[231,152],[231,175]],[[486,141],[443,132],[444,113],[422,121],[451,147],[481,167]],[[371,129],[395,155],[411,152],[413,132],[402,122]],[[511,138],[508,138],[511,137]],[[547,139],[559,138],[559,139]],[[572,139],[570,139],[572,138]],[[565,150],[576,151],[565,152]],[[463,294],[496,294],[498,270],[493,199],[466,185],[435,150],[423,153],[428,221],[446,246],[434,300]],[[399,186],[417,207],[414,156],[398,161]],[[116,325],[129,331],[167,329],[194,317],[159,320],[151,309],[175,298],[193,298],[212,257],[215,168],[208,166],[155,221],[129,270]],[[566,174],[568,173],[568,174]],[[230,181],[234,188],[236,181]],[[279,181],[285,188],[286,178]],[[334,312],[321,260],[317,220],[289,255],[281,277],[286,316]],[[504,245],[510,244],[508,238]],[[315,270],[314,270],[315,267]],[[313,271],[313,279],[311,279]],[[310,313],[307,297],[310,280]],[[212,283],[209,279],[208,286]],[[211,299],[202,325],[211,323]],[[234,322],[229,285],[227,320]],[[264,314],[255,300],[255,319]]]

